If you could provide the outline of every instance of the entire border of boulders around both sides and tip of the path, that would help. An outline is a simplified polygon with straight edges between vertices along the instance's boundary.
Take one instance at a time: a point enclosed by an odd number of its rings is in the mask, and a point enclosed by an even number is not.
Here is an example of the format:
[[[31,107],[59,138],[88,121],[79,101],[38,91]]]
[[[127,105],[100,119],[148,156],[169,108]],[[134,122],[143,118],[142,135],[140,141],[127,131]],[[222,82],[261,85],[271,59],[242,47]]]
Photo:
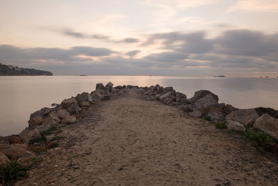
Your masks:
[[[34,146],[38,146],[40,140],[44,140],[47,146],[55,143],[57,136],[45,135],[51,128],[74,124],[79,119],[81,110],[99,101],[114,99],[128,89],[136,90],[149,101],[179,107],[192,117],[209,117],[213,122],[227,121],[227,128],[243,132],[247,128],[258,128],[278,140],[278,111],[272,108],[234,108],[229,104],[218,103],[218,96],[208,90],[199,90],[188,99],[186,94],[176,92],[173,87],[160,85],[113,87],[113,83],[109,82],[106,86],[98,83],[95,91],[91,93],[83,92],[63,100],[60,104],[54,104],[55,108],[42,108],[33,112],[28,127],[19,135],[0,137],[0,164],[10,160],[17,162],[32,160],[35,158]]]

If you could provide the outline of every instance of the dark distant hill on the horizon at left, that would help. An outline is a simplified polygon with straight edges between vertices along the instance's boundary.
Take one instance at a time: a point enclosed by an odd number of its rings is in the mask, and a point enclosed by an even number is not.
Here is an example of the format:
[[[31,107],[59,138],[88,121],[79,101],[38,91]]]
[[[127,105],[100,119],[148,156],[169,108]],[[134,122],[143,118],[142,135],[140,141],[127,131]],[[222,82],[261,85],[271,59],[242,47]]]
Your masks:
[[[24,69],[0,63],[0,76],[53,76],[50,71]]]

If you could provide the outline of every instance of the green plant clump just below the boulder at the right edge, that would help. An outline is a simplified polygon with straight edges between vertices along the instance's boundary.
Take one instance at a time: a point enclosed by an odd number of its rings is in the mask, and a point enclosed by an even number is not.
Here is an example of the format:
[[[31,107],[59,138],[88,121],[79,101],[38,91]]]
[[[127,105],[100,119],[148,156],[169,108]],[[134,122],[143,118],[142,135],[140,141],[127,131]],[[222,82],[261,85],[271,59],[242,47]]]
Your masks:
[[[252,145],[256,147],[270,149],[270,146],[274,143],[274,140],[270,137],[270,135],[259,130],[247,130],[245,135],[247,140],[252,142]]]

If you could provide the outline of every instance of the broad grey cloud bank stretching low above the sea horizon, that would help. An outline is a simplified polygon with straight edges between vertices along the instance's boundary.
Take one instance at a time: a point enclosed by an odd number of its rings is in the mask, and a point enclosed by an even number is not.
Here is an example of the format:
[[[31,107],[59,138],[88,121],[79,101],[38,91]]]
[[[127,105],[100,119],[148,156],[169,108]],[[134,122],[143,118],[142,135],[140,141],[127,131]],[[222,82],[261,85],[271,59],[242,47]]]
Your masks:
[[[159,43],[159,45],[158,45]],[[214,38],[205,32],[156,33],[149,35],[140,50],[112,51],[106,48],[28,48],[0,45],[0,62],[25,67],[47,67],[54,72],[61,65],[64,74],[156,74],[204,76],[256,74],[278,71],[278,34],[250,30],[224,31]],[[141,58],[138,53],[154,49]],[[161,52],[158,52],[158,50]],[[129,58],[126,58],[129,56]],[[57,67],[57,68],[56,68]],[[82,73],[84,72],[84,73]],[[110,72],[110,73],[109,73]]]

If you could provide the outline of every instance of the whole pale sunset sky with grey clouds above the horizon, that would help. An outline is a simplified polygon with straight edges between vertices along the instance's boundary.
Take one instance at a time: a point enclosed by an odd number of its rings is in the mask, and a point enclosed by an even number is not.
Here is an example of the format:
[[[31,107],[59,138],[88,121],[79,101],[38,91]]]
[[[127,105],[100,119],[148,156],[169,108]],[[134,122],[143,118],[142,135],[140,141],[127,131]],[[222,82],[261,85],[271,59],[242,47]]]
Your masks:
[[[1,0],[0,62],[54,75],[278,76],[277,0]]]

